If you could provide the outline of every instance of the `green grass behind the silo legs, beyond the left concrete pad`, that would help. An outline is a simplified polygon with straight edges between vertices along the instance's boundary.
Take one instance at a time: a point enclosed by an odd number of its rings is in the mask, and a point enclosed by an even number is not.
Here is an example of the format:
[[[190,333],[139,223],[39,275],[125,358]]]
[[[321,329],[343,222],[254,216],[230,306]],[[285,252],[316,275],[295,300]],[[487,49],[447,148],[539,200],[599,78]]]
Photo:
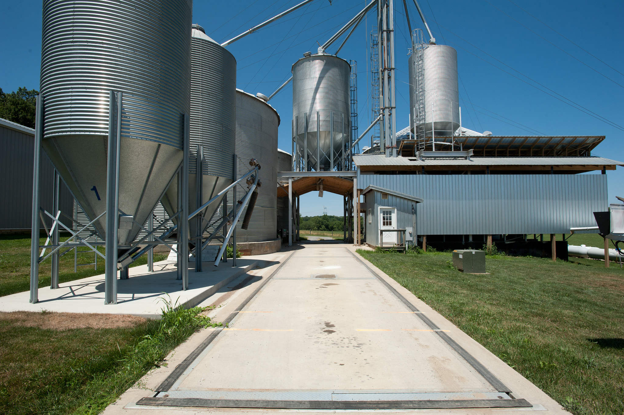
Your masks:
[[[66,241],[67,237],[62,237],[61,242]],[[45,238],[41,238],[40,244],[46,243]],[[82,247],[79,250],[87,250]],[[104,254],[104,247],[98,248]],[[78,264],[89,264],[94,262],[95,252],[90,251],[77,255]],[[154,261],[167,259],[166,255],[154,254]],[[51,257],[39,264],[39,288],[49,287],[50,273],[52,269]],[[147,264],[147,255],[140,257],[134,264]],[[85,265],[77,267],[74,272],[74,251],[70,251],[59,260],[59,282],[67,282],[78,280],[81,278],[92,277],[93,275],[104,274],[105,261],[98,256],[97,270],[94,265]],[[16,292],[28,291],[30,289],[30,272],[31,272],[31,238],[30,236],[18,235],[0,235],[0,297]]]

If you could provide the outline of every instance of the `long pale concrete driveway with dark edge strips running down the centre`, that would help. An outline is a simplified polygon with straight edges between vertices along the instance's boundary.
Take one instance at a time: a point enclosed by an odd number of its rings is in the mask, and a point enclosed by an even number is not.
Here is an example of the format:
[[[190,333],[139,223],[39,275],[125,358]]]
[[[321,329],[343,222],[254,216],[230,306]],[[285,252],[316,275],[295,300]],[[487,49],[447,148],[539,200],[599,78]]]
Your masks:
[[[386,412],[492,414],[567,413],[543,391],[472,340],[412,293],[349,252],[356,247],[296,247],[286,264],[241,309],[227,329],[202,330],[150,372],[105,414],[275,413],[295,409],[141,406],[144,397],[388,401],[402,399],[527,399],[531,408],[384,409]],[[303,248],[303,249],[301,249]],[[295,247],[293,247],[295,249]],[[324,250],[326,252],[320,252]],[[290,255],[290,252],[286,254]],[[323,254],[321,256],[320,254]],[[286,259],[283,255],[275,262]],[[321,260],[323,261],[321,263]],[[250,285],[213,315],[222,321],[278,267],[248,274]],[[334,278],[311,275],[328,274]],[[242,276],[240,277],[242,279]],[[239,279],[239,280],[240,280]],[[383,281],[402,297],[400,300]],[[234,284],[234,282],[233,282]],[[232,284],[230,284],[232,285]],[[208,300],[207,300],[208,301]],[[412,312],[407,303],[417,307]],[[239,308],[240,309],[240,308]],[[511,389],[497,392],[457,351],[431,330],[422,313]],[[217,338],[167,392],[154,391],[208,336]],[[355,409],[341,410],[355,411]],[[358,411],[378,411],[359,409]],[[311,413],[326,411],[306,410]]]

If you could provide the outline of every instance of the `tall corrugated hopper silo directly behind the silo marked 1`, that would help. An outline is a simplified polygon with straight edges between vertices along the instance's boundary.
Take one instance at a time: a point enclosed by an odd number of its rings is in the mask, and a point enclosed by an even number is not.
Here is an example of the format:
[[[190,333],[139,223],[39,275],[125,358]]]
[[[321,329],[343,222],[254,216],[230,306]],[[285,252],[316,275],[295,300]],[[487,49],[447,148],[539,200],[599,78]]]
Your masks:
[[[229,186],[233,179],[236,135],[236,59],[193,24],[191,38],[190,163],[188,209],[197,209],[197,145],[203,146],[202,204]],[[169,214],[177,211],[177,181],[162,202]],[[204,212],[210,219],[213,203]],[[208,226],[204,223],[204,229]],[[195,235],[193,220],[190,235]]]

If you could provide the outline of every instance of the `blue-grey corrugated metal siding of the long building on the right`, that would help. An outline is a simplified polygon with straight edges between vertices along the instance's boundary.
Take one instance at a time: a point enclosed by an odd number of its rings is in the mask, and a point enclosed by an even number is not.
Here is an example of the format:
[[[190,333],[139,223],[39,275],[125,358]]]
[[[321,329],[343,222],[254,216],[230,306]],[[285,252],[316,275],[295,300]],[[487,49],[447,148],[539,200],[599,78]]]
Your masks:
[[[605,174],[358,174],[359,188],[370,184],[424,199],[419,235],[569,233],[608,207]]]

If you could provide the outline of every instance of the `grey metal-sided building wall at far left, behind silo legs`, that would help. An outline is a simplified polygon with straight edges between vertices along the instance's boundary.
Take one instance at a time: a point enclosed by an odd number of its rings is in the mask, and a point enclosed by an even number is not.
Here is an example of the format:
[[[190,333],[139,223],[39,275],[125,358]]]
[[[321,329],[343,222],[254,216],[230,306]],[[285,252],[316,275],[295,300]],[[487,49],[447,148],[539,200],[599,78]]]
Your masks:
[[[32,214],[32,146],[34,136],[0,125],[0,229],[29,229]],[[54,168],[41,151],[39,189],[41,207],[52,213]],[[62,183],[62,182],[61,182]],[[61,211],[71,216],[74,198],[61,184]],[[69,221],[67,222],[69,226]],[[51,226],[51,221],[46,221]]]

